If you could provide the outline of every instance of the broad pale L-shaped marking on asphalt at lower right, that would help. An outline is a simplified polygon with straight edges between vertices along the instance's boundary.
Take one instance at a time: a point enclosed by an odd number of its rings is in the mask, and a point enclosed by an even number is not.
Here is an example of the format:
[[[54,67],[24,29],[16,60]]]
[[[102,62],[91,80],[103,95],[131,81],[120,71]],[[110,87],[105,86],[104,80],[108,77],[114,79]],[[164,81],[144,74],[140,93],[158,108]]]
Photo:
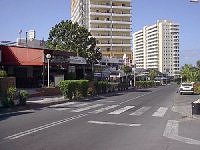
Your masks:
[[[177,140],[179,142],[192,144],[192,145],[200,145],[200,141],[194,140],[191,138],[186,138],[178,135],[178,128],[179,128],[179,122],[176,120],[168,120],[165,131],[163,133],[163,136]]]

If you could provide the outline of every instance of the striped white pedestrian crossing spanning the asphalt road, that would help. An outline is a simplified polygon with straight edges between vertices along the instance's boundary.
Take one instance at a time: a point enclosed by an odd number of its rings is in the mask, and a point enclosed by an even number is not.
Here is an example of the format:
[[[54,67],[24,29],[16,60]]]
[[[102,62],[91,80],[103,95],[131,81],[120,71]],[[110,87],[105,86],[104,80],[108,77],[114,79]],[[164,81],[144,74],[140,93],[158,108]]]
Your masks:
[[[158,117],[158,118],[164,117],[168,111],[167,107],[143,106],[137,108],[136,106],[133,105],[123,106],[123,105],[91,104],[91,103],[80,103],[80,102],[69,102],[64,104],[58,104],[50,106],[49,108],[53,108],[56,111],[69,110],[70,112],[74,113],[88,111],[88,113],[90,114],[99,114],[105,112],[108,115],[127,114],[130,116],[141,116],[144,113],[148,113],[151,114],[152,117]]]

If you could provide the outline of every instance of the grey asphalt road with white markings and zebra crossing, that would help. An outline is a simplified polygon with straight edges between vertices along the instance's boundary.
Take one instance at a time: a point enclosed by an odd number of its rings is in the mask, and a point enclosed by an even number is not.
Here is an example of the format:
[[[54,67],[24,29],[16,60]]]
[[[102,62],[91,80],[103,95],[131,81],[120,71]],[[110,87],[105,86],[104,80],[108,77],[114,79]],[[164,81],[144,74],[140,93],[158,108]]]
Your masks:
[[[176,85],[0,115],[1,150],[199,150],[200,120],[173,112]]]

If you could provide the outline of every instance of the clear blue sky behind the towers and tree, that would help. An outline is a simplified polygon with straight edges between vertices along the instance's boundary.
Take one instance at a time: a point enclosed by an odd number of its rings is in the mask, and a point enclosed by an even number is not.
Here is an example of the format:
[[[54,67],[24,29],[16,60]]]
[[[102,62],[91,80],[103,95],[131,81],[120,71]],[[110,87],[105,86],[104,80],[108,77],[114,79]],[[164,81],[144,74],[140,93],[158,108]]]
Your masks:
[[[189,0],[132,0],[133,32],[159,19],[180,24],[180,63],[196,64],[200,59],[200,3]],[[70,19],[70,0],[0,0],[0,41],[16,41],[19,30],[36,30],[45,40],[49,30]]]

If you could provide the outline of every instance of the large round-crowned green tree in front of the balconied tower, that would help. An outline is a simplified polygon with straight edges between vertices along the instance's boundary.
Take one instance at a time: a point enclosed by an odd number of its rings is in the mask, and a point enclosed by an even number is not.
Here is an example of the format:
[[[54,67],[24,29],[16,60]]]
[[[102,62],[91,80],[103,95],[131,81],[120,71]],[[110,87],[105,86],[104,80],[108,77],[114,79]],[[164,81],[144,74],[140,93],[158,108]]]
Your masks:
[[[90,32],[78,23],[68,20],[63,20],[52,27],[46,47],[74,52],[77,56],[86,58],[89,64],[96,63],[102,57],[99,48],[96,48],[96,39]]]

